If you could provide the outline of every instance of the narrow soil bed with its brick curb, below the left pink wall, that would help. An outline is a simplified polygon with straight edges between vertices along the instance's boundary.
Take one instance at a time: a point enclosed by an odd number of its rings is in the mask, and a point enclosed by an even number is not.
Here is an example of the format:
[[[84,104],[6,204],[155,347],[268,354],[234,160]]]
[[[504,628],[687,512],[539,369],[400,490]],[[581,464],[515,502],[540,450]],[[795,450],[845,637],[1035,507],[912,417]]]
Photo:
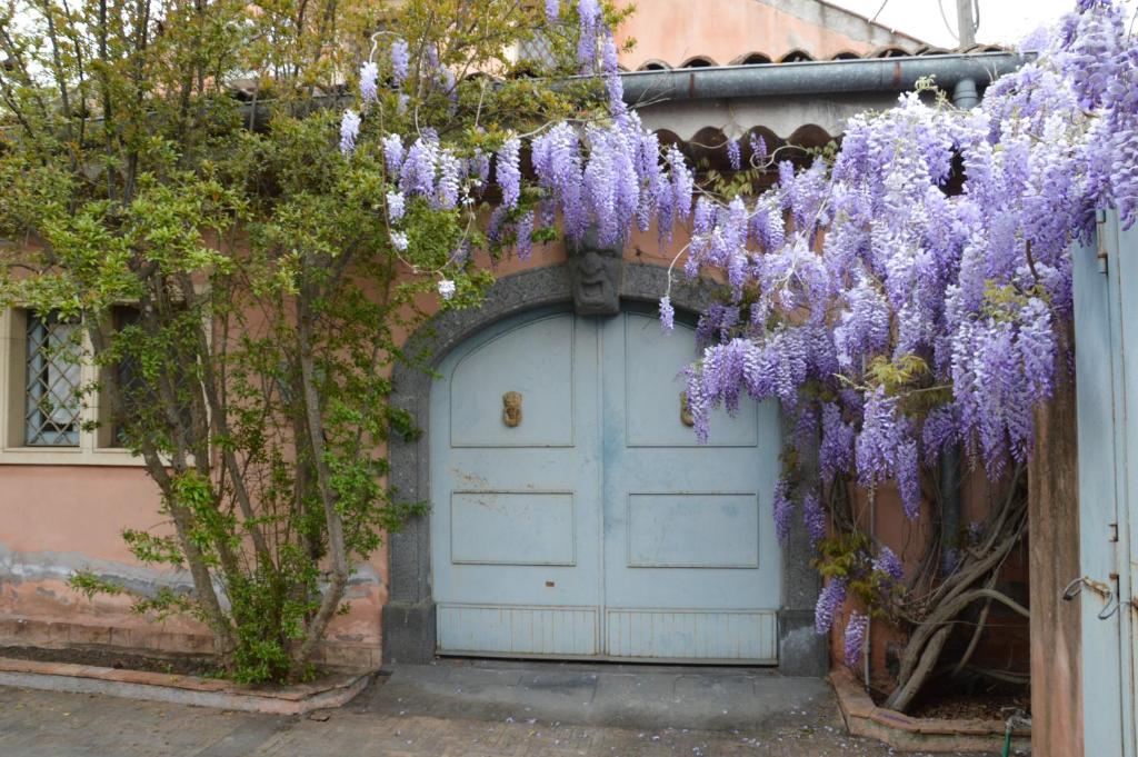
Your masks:
[[[17,657],[18,655],[18,657]],[[84,664],[102,661],[106,665]],[[336,673],[295,685],[241,685],[209,677],[200,658],[149,658],[129,652],[0,648],[0,685],[98,693],[221,709],[303,715],[340,707],[368,685],[370,673]]]

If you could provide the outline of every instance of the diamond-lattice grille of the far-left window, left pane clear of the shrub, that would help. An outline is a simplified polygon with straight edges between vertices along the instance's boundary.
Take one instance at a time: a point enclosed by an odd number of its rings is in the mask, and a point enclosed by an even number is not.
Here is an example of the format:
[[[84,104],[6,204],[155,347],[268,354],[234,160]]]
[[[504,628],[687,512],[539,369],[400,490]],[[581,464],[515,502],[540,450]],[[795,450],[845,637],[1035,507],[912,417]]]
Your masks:
[[[24,443],[28,446],[79,446],[79,326],[55,314],[27,316],[27,390]]]

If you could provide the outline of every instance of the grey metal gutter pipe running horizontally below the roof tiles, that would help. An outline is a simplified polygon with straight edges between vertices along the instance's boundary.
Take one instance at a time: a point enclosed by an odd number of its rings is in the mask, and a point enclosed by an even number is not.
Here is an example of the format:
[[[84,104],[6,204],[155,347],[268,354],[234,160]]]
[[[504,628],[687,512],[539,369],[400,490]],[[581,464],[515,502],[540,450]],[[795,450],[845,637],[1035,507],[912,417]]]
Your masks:
[[[935,84],[972,107],[979,90],[1034,59],[1016,52],[925,55],[907,58],[863,58],[805,63],[718,66],[669,71],[637,71],[620,75],[625,101],[648,106],[666,100],[707,100],[792,94],[855,94],[907,92],[917,80]],[[971,105],[970,105],[971,104]]]

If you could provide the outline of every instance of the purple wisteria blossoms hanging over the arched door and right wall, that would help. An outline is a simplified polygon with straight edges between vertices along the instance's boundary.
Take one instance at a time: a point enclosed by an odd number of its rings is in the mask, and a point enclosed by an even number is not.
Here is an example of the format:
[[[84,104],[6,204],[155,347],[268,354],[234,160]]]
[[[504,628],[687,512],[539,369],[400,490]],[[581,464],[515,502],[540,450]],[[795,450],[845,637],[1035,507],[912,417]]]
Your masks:
[[[547,1],[546,18],[576,16],[578,64],[603,81],[607,117],[509,135],[493,156],[459,157],[429,129],[386,134],[397,248],[411,198],[464,207],[489,186],[492,162],[501,203],[487,237],[513,239],[521,256],[558,220],[569,238],[595,228],[603,245],[653,224],[670,241],[675,224],[690,223],[684,271],[715,269],[727,285],[702,314],[706,348],[687,370],[696,434],[706,441],[711,411],[748,396],[780,402],[794,421],[791,444],[817,446],[813,479],[790,469],[776,485],[782,540],[799,512],[811,543],[824,538],[820,494],[838,477],[868,489],[896,483],[915,519],[922,470],[947,447],[963,447],[992,478],[1031,454],[1033,411],[1066,364],[1058,335],[1072,314],[1072,245],[1088,237],[1096,208],[1118,208],[1128,225],[1138,216],[1138,46],[1118,0],[1079,0],[1038,59],[993,83],[980,107],[906,94],[850,120],[832,161],[781,163],[770,190],[732,198],[700,192],[681,150],[662,148],[625,106],[597,0],[568,6]],[[403,87],[405,42],[391,46],[390,67],[391,85]],[[343,118],[346,155],[376,88],[366,64],[362,107]],[[767,159],[761,139],[750,147],[752,161]],[[739,145],[728,154],[739,166]],[[440,294],[454,290],[443,278]],[[873,569],[901,578],[885,549]],[[835,578],[819,596],[819,633],[846,587]],[[855,619],[849,658],[865,632],[865,616]]]

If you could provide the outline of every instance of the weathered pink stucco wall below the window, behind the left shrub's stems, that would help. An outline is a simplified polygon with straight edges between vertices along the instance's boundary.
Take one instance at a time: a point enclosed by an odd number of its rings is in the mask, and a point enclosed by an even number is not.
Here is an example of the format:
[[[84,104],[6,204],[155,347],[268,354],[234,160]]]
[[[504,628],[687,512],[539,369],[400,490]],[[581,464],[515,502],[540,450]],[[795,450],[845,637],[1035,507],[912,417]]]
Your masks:
[[[130,584],[184,583],[171,570],[139,566],[124,528],[164,528],[155,485],[141,468],[0,466],[0,644],[98,644],[166,652],[209,649],[208,631],[182,617],[154,623],[129,611],[125,598],[88,600],[66,585],[79,569]],[[379,663],[382,550],[360,570],[352,608],[336,618],[327,663]]]

